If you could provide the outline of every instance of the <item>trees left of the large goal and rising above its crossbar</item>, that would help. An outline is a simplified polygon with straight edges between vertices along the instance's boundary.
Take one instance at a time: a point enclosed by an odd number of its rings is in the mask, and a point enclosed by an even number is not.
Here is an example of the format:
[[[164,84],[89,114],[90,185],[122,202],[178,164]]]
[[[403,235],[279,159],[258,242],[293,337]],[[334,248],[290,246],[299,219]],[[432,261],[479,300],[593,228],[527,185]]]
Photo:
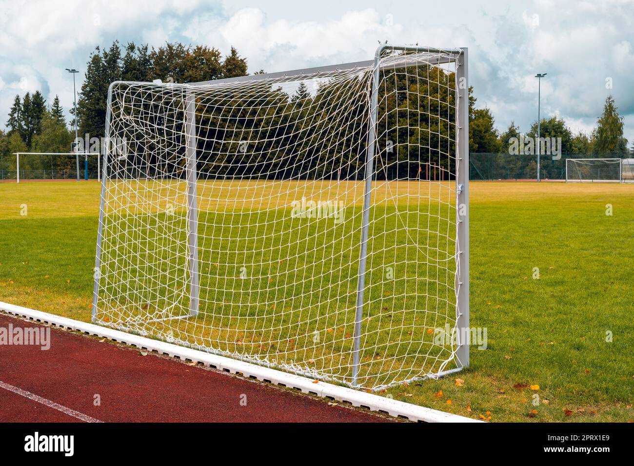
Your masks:
[[[108,86],[113,81],[195,82],[243,76],[247,74],[247,60],[231,48],[228,55],[216,48],[190,46],[178,42],[159,48],[128,42],[121,46],[114,41],[108,48],[97,46],[86,65],[86,76],[77,98],[77,127],[79,138],[102,138],[105,131]],[[39,91],[15,96],[6,131],[0,131],[0,178],[13,172],[15,152],[70,152],[75,139],[75,113],[66,121],[58,96],[47,105]],[[89,141],[86,141],[88,145]],[[88,147],[84,148],[85,150]],[[96,171],[96,160],[89,159],[89,170]],[[61,176],[70,173],[74,178],[73,157],[23,157],[20,169],[51,178],[51,172]]]

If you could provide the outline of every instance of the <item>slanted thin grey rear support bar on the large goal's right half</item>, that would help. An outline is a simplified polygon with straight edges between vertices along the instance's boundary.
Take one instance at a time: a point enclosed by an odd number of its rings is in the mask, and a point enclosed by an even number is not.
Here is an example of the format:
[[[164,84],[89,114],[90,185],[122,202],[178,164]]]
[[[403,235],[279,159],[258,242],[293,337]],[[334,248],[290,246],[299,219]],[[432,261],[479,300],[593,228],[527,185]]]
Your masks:
[[[370,103],[370,128],[368,129],[368,153],[365,161],[365,187],[363,192],[363,224],[361,226],[361,250],[359,252],[359,282],[357,286],[356,314],[354,316],[353,347],[353,387],[358,385],[359,352],[361,351],[361,321],[363,320],[363,290],[365,288],[365,263],[368,256],[368,230],[370,227],[370,200],[372,195],[372,175],[374,174],[374,152],[378,113],[379,63],[384,46],[377,49],[374,57],[374,75],[372,79],[372,98]]]

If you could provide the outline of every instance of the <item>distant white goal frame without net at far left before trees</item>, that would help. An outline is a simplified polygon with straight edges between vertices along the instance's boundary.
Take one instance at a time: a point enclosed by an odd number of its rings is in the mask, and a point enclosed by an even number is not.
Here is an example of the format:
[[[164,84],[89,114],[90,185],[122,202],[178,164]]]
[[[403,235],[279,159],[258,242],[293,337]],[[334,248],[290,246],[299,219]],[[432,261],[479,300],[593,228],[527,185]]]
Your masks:
[[[69,157],[96,157],[97,179],[101,181],[100,154],[94,152],[15,152],[16,183],[20,183],[20,170],[29,172],[30,179],[70,179],[66,174],[75,172],[79,180],[79,168],[72,164]],[[22,161],[22,169],[20,162]],[[87,176],[87,169],[86,169]],[[22,177],[25,179],[24,177]]]

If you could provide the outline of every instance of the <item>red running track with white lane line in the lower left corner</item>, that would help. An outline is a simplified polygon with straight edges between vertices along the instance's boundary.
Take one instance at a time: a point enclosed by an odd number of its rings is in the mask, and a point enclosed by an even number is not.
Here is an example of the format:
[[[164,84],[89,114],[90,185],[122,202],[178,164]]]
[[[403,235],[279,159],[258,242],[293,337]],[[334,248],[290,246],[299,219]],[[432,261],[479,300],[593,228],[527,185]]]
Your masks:
[[[41,327],[0,314],[0,327],[8,329],[10,323],[13,328]],[[138,349],[94,337],[58,328],[50,332],[47,351],[0,345],[0,422],[390,420],[176,359],[143,356]],[[94,405],[95,395],[100,406]]]

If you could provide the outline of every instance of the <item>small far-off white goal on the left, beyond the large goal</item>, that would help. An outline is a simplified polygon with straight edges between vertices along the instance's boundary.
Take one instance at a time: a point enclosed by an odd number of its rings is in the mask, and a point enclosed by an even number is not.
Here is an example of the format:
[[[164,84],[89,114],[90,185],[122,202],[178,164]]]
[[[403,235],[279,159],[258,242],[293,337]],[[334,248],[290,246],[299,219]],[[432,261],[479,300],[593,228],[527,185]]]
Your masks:
[[[97,179],[101,179],[99,153],[89,152],[15,152],[15,166],[9,167],[6,178],[43,180],[43,179],[88,179],[87,160],[97,160]],[[84,174],[80,174],[79,159],[85,160]],[[15,174],[15,177],[13,176]],[[2,178],[5,178],[4,176]]]

